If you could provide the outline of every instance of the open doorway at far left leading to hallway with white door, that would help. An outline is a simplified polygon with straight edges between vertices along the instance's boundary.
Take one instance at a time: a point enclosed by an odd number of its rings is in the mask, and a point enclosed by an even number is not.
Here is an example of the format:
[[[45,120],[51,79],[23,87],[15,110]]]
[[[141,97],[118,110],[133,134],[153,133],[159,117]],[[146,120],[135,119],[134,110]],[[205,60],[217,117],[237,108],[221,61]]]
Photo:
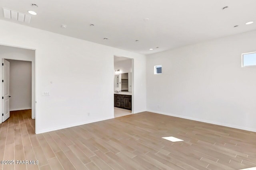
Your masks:
[[[2,119],[28,119],[35,131],[35,50],[0,45]]]

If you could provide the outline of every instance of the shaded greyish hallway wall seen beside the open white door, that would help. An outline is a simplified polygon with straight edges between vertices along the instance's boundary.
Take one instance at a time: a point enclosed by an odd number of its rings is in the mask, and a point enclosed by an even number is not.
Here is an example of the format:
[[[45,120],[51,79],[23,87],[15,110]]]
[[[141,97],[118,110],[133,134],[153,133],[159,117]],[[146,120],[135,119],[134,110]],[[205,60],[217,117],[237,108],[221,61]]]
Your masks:
[[[8,61],[10,62],[10,96],[12,96],[10,111],[31,109],[32,63],[19,60]]]

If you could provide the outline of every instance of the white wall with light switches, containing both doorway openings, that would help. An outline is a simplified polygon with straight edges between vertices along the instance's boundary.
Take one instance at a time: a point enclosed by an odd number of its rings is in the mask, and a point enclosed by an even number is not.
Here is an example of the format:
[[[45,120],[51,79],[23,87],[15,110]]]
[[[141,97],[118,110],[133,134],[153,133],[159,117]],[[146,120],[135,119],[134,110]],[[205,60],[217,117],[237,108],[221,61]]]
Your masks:
[[[114,118],[114,55],[134,59],[134,112],[146,110],[144,55],[3,20],[0,32],[0,44],[36,49],[36,133]]]

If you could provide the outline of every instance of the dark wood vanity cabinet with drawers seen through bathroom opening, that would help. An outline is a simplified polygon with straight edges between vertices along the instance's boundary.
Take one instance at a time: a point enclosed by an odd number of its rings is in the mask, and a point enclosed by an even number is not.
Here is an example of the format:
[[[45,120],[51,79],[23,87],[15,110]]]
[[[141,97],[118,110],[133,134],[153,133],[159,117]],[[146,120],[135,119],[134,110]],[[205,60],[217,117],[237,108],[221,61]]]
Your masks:
[[[132,96],[114,94],[114,107],[132,110]]]

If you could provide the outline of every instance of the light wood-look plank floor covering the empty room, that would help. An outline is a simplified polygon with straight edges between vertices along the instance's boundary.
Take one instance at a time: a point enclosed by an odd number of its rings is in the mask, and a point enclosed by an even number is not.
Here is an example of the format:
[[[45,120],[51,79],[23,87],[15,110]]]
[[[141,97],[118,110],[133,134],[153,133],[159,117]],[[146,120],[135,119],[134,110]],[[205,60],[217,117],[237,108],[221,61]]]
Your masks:
[[[256,166],[256,133],[150,112],[35,135],[31,110],[0,124],[0,170],[238,170]],[[162,137],[173,136],[182,142]]]

